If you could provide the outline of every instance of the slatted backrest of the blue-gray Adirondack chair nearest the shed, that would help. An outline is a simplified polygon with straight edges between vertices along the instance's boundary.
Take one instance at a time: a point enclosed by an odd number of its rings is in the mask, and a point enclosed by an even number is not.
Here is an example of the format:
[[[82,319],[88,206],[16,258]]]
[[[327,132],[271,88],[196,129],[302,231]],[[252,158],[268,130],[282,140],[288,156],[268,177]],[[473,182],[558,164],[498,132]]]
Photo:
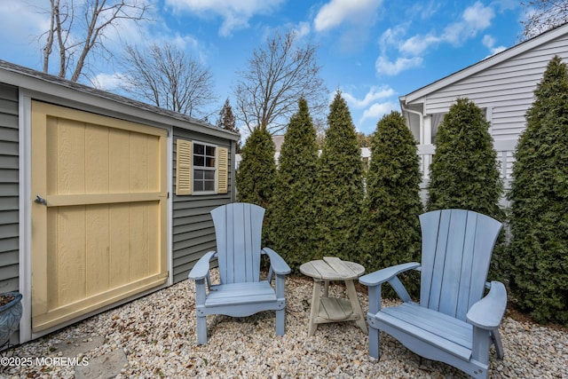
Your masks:
[[[258,281],[264,209],[234,202],[211,210],[221,283]]]

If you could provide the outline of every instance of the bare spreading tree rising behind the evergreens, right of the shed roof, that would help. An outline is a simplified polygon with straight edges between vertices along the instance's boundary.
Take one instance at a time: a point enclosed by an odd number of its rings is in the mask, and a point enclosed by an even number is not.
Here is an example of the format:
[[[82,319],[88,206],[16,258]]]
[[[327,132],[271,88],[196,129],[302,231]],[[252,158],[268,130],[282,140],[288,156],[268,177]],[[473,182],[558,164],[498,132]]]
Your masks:
[[[319,77],[317,47],[298,45],[296,34],[276,32],[252,53],[248,68],[239,72],[234,89],[238,117],[248,130],[266,128],[272,134],[286,128],[304,97],[314,114],[327,107],[327,89]]]

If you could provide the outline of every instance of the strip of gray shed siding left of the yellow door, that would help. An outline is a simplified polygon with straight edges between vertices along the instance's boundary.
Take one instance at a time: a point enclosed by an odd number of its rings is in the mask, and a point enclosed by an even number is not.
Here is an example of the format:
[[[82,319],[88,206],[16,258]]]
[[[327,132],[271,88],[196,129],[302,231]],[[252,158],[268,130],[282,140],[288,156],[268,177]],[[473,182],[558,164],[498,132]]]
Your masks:
[[[19,289],[18,88],[0,83],[0,292]]]

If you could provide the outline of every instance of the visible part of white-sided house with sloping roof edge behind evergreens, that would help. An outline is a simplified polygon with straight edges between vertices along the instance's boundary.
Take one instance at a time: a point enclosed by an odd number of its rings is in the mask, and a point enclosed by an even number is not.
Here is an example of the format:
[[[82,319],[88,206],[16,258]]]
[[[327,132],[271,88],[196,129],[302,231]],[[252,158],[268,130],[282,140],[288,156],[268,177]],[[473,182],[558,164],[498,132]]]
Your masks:
[[[406,112],[411,130],[420,137],[421,133],[434,129],[435,125],[431,125],[433,114],[445,114],[456,99],[472,100],[477,107],[485,108],[487,119],[491,122],[490,133],[507,187],[517,140],[525,130],[526,111],[533,105],[534,90],[542,80],[548,62],[555,55],[568,63],[568,24],[401,98],[407,110],[414,109],[423,114],[423,125],[428,126],[421,130],[416,114]],[[429,141],[430,136],[424,135],[419,139]],[[424,183],[428,181],[428,166],[434,147],[419,146]]]

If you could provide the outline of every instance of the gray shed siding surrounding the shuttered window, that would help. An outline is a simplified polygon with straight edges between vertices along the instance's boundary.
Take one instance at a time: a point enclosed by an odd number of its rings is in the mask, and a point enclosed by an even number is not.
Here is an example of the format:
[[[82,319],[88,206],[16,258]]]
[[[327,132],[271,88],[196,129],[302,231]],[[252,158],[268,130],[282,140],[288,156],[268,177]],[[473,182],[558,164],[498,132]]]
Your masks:
[[[215,229],[209,212],[211,209],[232,201],[234,162],[231,160],[231,141],[214,138],[189,130],[174,129],[173,152],[173,209],[172,252],[174,282],[187,279],[187,274],[197,260],[216,247]],[[228,192],[211,195],[176,195],[176,148],[177,138],[200,141],[229,149]]]

